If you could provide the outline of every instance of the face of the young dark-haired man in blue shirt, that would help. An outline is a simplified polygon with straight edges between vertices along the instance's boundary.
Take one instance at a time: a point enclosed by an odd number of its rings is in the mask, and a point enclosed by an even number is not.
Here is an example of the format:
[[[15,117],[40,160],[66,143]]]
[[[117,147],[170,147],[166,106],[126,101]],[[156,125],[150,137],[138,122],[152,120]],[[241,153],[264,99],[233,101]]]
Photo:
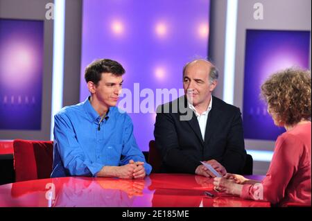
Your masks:
[[[101,105],[107,107],[116,106],[119,95],[121,94],[122,84],[122,76],[114,76],[112,73],[102,73],[102,78],[98,82],[98,85],[94,85],[94,93],[92,94],[96,96],[96,100]]]

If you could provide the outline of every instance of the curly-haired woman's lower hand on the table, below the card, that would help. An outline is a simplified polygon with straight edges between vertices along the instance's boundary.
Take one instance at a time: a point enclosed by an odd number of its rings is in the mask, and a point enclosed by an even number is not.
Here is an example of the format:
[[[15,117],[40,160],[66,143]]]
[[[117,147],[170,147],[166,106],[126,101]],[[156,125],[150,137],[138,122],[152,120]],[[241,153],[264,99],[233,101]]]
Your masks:
[[[214,190],[232,195],[241,195],[243,185],[236,184],[233,179],[225,179],[224,177],[214,178]]]

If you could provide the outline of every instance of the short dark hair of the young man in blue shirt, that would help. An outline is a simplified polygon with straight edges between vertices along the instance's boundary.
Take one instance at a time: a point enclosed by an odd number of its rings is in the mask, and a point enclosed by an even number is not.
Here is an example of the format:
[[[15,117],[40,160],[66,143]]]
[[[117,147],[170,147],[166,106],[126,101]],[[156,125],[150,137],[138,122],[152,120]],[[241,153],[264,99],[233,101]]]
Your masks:
[[[112,73],[114,76],[122,76],[125,73],[125,69],[123,69],[119,62],[114,60],[95,60],[85,68],[85,81],[91,81],[94,82],[95,85],[98,85],[102,73]]]

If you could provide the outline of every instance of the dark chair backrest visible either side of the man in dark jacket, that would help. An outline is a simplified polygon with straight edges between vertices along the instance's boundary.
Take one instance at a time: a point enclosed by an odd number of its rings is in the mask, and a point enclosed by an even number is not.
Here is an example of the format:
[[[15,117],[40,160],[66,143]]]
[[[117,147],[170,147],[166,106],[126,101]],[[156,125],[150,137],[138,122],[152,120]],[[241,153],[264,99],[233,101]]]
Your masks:
[[[159,151],[155,147],[155,141],[150,141],[149,145],[149,152],[148,152],[148,163],[153,167],[152,173],[159,173],[160,166],[162,165],[162,157],[159,154]],[[245,166],[243,168],[243,175],[252,175],[252,168],[253,168],[253,159],[252,155],[247,154]]]

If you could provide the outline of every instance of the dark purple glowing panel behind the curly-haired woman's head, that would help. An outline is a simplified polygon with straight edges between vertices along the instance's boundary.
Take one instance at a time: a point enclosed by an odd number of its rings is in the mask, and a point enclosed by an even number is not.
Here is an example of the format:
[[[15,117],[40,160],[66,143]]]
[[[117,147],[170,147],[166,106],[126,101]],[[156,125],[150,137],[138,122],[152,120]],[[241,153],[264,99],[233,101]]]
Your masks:
[[[285,132],[274,125],[260,87],[276,71],[289,67],[309,69],[309,31],[247,30],[243,93],[245,139],[276,140]]]

